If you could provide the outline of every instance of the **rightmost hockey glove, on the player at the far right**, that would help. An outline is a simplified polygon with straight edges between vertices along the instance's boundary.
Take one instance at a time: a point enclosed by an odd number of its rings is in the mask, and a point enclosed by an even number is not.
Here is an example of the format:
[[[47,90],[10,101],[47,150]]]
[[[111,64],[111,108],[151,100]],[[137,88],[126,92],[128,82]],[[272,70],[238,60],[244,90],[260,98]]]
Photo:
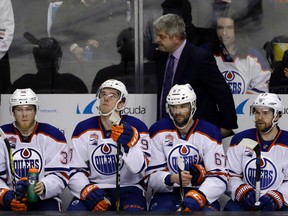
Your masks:
[[[257,207],[262,211],[275,211],[282,208],[284,203],[283,195],[275,190],[268,191],[259,199],[260,205]]]

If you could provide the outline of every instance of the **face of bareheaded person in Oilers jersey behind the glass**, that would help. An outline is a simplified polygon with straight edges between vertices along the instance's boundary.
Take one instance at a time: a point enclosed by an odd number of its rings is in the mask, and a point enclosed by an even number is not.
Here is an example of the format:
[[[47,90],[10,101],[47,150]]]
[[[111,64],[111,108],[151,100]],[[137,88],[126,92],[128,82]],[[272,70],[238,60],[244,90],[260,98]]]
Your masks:
[[[231,46],[235,41],[234,21],[227,17],[218,18],[217,35],[226,47]]]

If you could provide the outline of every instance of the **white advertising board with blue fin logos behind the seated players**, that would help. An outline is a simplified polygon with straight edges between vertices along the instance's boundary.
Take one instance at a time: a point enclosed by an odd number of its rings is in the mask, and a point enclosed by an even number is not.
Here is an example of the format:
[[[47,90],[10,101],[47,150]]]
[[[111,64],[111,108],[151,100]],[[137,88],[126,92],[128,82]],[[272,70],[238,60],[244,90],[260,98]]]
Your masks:
[[[1,96],[0,125],[12,121],[9,112],[9,98],[11,95]],[[234,95],[235,107],[238,116],[239,128],[235,132],[254,127],[252,116],[250,116],[250,105],[256,95]],[[285,112],[280,119],[279,126],[288,130],[287,105],[288,95],[280,95]],[[76,124],[86,118],[98,114],[95,107],[95,94],[38,94],[39,113],[37,120],[47,122],[58,127],[70,140]],[[150,127],[156,120],[157,97],[154,94],[130,94],[125,114],[133,115],[143,120]]]

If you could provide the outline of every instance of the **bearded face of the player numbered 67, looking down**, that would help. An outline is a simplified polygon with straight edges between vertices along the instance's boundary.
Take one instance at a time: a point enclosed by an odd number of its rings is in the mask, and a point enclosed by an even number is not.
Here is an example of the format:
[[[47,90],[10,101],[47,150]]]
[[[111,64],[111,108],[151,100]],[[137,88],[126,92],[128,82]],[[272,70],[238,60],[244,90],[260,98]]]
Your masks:
[[[178,127],[183,127],[187,125],[191,115],[190,103],[180,104],[180,105],[170,105],[170,114],[174,119],[174,123]]]

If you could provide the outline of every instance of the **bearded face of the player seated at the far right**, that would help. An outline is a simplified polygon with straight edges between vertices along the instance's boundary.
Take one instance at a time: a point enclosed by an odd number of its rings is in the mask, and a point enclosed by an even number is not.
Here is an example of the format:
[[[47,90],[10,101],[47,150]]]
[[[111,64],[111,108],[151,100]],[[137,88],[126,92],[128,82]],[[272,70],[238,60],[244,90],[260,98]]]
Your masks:
[[[255,108],[255,126],[259,132],[267,132],[272,127],[274,118],[273,110],[270,108]]]

